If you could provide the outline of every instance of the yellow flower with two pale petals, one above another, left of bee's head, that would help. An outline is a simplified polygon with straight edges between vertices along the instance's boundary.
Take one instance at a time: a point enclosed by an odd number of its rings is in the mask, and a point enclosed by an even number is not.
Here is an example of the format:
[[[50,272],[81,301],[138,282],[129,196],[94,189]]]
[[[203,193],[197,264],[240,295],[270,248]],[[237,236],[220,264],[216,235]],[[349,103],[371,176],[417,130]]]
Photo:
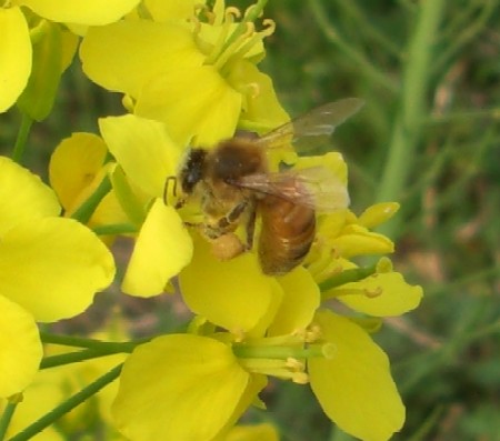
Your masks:
[[[192,255],[182,219],[162,200],[166,180],[176,174],[181,149],[161,122],[128,114],[101,119],[99,126],[127,180],[140,193],[136,211],[143,212],[122,289],[139,297],[160,294]],[[127,196],[120,199],[122,206],[128,203]]]

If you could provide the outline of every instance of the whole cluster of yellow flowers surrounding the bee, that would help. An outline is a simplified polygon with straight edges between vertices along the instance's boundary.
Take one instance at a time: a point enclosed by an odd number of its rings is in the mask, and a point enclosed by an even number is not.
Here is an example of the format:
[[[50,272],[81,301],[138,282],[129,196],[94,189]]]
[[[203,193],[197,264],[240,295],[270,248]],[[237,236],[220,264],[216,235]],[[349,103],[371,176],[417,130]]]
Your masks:
[[[87,77],[123,93],[127,109],[101,118],[100,136],[73,133],[57,146],[50,187],[19,160],[0,158],[4,418],[23,397],[9,433],[57,407],[64,389],[76,390],[79,383],[68,382],[78,372],[80,379],[90,375],[74,364],[48,369],[64,353],[46,349],[42,361],[37,323],[83,312],[113,281],[109,245],[119,234],[134,239],[122,291],[153,297],[169,291],[174,279],[196,314],[187,332],[123,345],[121,354],[111,343],[99,345],[103,335],[94,335],[94,352],[86,341],[88,358],[102,357],[94,372],[124,362],[121,373],[111,371],[113,378],[120,373],[118,392],[107,388],[99,399],[104,420],[121,435],[277,440],[269,424],[236,425],[250,405],[263,405],[258,395],[270,377],[310,383],[324,413],[360,439],[386,440],[402,427],[404,407],[388,358],[370,338],[374,320],[366,317],[404,313],[422,292],[388,258],[370,268],[352,261],[393,251],[388,238],[370,229],[388,220],[396,203],[376,204],[359,217],[348,209],[319,216],[303,265],[274,278],[262,273],[252,251],[216,259],[186,227],[191,214],[164,201],[166,178],[177,174],[187,146],[213,146],[238,129],[263,133],[289,120],[257,66],[274,30],[272,21],[259,19],[264,3],[244,13],[222,0],[210,8],[200,0],[113,0],[106,7],[97,0],[11,0],[0,7],[7,33],[0,43],[0,111],[17,103],[31,120],[43,120],[77,50]],[[347,186],[339,153],[298,161],[326,164]],[[346,307],[343,314],[327,305],[333,298]],[[41,361],[47,369],[40,370]],[[79,427],[83,417],[84,410],[62,421]],[[50,427],[37,439],[43,435],[62,439]]]

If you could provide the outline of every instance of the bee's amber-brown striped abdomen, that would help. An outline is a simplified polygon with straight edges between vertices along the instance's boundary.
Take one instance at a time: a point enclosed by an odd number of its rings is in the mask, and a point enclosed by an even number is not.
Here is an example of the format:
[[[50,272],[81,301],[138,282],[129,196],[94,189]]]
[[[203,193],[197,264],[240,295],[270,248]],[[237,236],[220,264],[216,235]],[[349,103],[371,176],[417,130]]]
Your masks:
[[[284,274],[300,264],[311,248],[316,232],[314,210],[273,196],[267,196],[260,209],[260,265],[266,274]]]

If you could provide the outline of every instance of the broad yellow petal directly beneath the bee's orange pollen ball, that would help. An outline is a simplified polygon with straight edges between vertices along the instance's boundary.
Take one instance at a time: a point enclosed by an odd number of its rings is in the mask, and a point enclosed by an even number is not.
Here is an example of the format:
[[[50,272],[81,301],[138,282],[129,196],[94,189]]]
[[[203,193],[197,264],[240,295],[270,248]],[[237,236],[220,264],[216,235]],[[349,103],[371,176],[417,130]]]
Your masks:
[[[221,262],[199,237],[179,281],[191,311],[237,334],[268,325],[282,295],[278,282],[263,275],[253,253]]]

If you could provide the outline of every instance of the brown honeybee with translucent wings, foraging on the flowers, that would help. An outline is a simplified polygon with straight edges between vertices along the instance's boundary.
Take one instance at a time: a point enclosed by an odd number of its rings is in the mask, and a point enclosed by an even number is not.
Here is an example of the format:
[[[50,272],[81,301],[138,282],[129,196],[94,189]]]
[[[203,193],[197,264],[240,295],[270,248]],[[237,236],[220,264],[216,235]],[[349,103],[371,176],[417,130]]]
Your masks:
[[[216,257],[231,259],[251,249],[259,216],[262,271],[286,274],[302,262],[314,239],[316,211],[346,208],[347,190],[322,167],[271,172],[267,153],[290,143],[299,152],[310,151],[362,104],[357,98],[330,102],[262,137],[246,133],[213,149],[188,151],[178,181],[186,199],[199,198],[203,214],[199,227]],[[240,224],[246,229],[244,242],[236,234]]]

